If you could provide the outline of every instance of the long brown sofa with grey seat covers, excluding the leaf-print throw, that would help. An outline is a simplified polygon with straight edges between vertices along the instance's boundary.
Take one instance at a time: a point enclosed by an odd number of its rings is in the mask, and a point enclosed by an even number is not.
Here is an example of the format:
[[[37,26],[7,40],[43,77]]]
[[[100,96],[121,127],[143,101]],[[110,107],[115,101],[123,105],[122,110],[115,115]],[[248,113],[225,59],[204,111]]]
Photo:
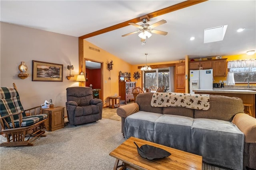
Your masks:
[[[189,95],[175,93],[179,94]],[[124,137],[184,150],[234,170],[255,169],[256,119],[244,113],[240,98],[209,96],[208,110],[198,110],[184,105],[152,107],[153,93],[141,93],[135,103],[117,109]]]

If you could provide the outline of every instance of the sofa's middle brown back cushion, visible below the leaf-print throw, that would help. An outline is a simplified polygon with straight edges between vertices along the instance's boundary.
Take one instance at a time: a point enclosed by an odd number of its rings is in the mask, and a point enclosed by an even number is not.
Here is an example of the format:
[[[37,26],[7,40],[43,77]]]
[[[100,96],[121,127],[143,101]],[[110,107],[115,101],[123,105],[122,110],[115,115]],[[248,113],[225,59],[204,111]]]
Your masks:
[[[186,107],[164,107],[163,114],[166,115],[180,115],[186,117],[194,117],[194,109],[188,109]]]

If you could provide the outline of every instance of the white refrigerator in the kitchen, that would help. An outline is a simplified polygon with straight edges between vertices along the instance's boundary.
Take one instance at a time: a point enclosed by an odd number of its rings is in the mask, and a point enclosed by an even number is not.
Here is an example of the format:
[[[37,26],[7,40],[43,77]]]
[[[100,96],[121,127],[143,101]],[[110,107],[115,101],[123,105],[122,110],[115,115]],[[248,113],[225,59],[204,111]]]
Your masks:
[[[212,89],[212,69],[190,70],[190,93],[193,89]]]

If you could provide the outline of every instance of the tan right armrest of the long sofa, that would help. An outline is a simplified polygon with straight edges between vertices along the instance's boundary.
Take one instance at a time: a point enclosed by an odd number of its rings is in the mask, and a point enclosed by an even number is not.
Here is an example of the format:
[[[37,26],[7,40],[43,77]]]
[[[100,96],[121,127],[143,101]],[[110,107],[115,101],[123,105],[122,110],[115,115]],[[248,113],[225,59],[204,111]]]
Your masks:
[[[256,143],[256,119],[254,117],[238,113],[234,116],[232,123],[244,133],[244,142]]]

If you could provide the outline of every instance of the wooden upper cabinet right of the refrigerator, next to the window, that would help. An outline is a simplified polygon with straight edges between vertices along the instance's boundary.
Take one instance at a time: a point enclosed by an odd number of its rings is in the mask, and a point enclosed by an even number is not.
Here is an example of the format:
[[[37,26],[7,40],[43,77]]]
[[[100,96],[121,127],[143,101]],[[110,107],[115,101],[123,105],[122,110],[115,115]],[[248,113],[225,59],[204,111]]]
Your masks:
[[[213,77],[215,76],[226,76],[226,58],[225,59],[214,59],[213,61]]]

